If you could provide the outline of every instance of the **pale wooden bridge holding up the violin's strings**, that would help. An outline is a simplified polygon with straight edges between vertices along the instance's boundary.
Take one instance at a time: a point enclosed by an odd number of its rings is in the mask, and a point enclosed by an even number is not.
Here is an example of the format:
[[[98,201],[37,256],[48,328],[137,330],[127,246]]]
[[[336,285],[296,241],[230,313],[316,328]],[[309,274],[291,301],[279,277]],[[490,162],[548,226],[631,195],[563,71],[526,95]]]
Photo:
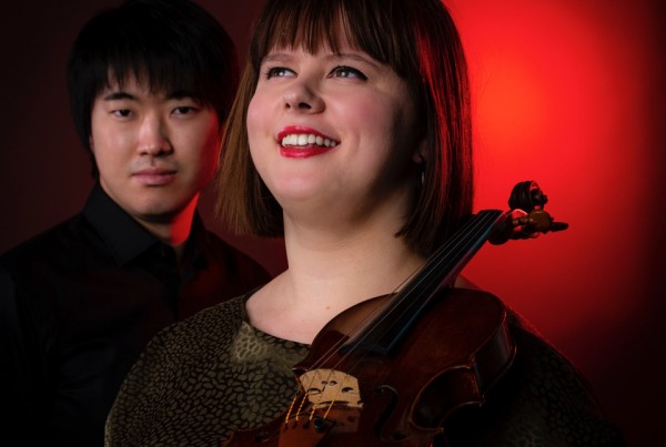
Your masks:
[[[301,385],[314,408],[345,405],[361,408],[359,379],[336,369],[312,369],[300,376]]]

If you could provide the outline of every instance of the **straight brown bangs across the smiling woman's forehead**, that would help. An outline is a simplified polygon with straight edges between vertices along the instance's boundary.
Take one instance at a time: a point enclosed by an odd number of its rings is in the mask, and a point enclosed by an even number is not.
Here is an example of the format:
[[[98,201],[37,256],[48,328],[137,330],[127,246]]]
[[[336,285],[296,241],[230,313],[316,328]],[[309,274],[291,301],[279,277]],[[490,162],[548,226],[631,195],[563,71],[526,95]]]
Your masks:
[[[411,14],[403,2],[283,0],[269,3],[250,45],[255,73],[273,48],[303,47],[311,53],[330,48],[339,52],[343,43],[390,65],[406,80],[418,73],[417,51],[410,45],[414,41]],[[339,37],[346,38],[346,42]]]

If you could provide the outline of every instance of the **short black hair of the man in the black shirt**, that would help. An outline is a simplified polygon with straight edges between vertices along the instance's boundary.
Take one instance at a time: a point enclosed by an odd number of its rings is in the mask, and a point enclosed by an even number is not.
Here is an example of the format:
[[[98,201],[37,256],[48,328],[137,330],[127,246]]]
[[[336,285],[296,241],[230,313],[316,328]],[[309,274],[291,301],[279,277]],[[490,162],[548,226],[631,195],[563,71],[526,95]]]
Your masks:
[[[92,160],[95,96],[133,75],[153,92],[180,92],[213,108],[222,123],[239,82],[233,41],[208,11],[189,0],[129,0],[93,17],[79,32],[68,63],[77,133]]]

